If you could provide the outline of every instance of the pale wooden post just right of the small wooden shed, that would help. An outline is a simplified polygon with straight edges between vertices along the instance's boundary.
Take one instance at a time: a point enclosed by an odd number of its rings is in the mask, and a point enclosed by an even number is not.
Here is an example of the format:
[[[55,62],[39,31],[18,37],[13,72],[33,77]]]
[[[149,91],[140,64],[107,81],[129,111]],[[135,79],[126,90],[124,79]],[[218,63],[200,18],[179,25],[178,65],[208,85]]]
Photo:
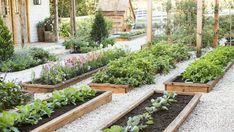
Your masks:
[[[148,0],[147,11],[147,42],[152,42],[152,0]]]

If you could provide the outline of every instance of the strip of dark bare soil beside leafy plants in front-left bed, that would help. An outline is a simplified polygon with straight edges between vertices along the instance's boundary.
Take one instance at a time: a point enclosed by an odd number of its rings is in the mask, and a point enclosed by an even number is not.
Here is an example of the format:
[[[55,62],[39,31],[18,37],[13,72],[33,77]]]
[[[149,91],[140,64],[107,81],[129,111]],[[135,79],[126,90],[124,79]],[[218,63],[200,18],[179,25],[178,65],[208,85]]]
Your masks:
[[[100,96],[103,93],[104,92],[98,91],[96,93],[95,97],[86,99],[86,102],[88,102],[89,100],[92,100],[92,99]],[[80,105],[86,103],[86,102],[83,102],[83,103],[82,102],[78,102],[76,105],[70,104],[70,105],[63,106],[61,108],[55,109],[54,113],[52,113],[51,117],[44,117],[36,125],[23,125],[23,126],[16,126],[16,127],[19,129],[20,132],[29,132],[29,131],[31,131],[31,130],[33,130],[33,129],[35,129],[35,128],[37,128],[37,127],[39,127],[39,126],[41,126],[41,125],[43,125],[43,124],[45,124],[45,123],[47,123],[47,122],[55,119],[55,118],[57,118],[57,117],[59,117],[59,116],[61,116],[63,114],[65,114],[66,112],[68,112],[68,111],[76,108],[77,106],[80,106]]]

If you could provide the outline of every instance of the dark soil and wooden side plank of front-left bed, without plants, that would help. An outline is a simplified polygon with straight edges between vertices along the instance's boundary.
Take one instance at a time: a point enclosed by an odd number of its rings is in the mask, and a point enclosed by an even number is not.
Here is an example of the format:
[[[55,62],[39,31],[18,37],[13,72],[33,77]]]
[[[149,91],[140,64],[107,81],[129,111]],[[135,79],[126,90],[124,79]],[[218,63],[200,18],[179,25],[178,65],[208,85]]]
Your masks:
[[[55,109],[55,112],[51,117],[40,120],[37,125],[19,127],[19,130],[24,132],[53,132],[56,129],[76,120],[82,115],[93,111],[101,105],[109,103],[111,100],[111,92],[99,91],[95,97],[90,98],[83,104],[79,103],[77,105],[67,105]]]

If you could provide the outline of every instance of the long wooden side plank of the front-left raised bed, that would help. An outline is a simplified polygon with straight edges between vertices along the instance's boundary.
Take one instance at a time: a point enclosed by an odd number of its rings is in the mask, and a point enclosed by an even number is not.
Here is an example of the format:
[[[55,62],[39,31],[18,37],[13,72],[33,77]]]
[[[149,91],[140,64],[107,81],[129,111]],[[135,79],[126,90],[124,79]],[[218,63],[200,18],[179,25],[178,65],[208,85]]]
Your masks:
[[[31,132],[53,132],[56,129],[80,118],[86,113],[89,113],[96,108],[109,103],[112,100],[112,93],[106,91],[103,94],[97,96],[96,98],[77,106],[76,108],[64,113],[63,115],[41,125],[40,127],[35,128]]]

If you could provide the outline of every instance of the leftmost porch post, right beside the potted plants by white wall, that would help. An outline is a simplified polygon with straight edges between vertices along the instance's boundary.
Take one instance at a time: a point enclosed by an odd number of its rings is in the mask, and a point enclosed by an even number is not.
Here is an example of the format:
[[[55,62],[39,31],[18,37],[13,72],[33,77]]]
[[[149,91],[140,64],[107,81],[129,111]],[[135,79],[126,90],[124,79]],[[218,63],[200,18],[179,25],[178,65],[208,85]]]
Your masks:
[[[54,0],[54,35],[55,41],[59,41],[59,22],[58,22],[58,0]]]

